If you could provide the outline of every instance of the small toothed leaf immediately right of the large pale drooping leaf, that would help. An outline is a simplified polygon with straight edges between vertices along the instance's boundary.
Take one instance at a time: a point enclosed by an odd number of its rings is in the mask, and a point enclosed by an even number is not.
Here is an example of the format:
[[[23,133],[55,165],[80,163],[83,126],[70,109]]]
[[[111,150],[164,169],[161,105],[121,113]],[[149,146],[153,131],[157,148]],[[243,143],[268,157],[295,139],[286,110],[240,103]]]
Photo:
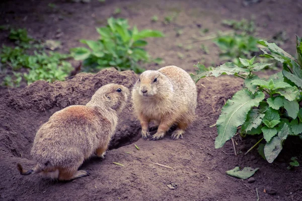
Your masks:
[[[253,128],[260,126],[264,114],[260,114],[258,109],[252,109],[247,115],[246,122],[241,126],[241,130],[244,132],[251,131]]]

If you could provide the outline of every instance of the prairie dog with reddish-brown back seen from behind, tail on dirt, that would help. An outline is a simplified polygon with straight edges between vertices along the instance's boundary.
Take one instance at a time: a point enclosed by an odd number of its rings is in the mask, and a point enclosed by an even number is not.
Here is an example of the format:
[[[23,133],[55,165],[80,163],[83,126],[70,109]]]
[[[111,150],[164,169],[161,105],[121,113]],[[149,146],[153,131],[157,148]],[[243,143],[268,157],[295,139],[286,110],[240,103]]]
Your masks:
[[[88,176],[88,171],[78,168],[94,153],[104,158],[115,133],[117,113],[125,107],[129,93],[123,85],[107,84],[86,106],[69,106],[54,113],[36,134],[31,149],[36,167],[25,171],[18,163],[20,173],[41,173],[58,180]]]

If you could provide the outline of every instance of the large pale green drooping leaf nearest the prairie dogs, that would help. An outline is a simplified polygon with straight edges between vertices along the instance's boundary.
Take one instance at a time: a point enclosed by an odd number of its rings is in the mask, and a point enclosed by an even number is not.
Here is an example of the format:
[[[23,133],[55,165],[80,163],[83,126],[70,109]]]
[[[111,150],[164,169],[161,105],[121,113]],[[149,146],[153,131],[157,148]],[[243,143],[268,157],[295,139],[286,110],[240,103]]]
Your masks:
[[[251,108],[258,107],[264,97],[263,92],[253,95],[248,89],[242,89],[226,102],[216,122],[218,132],[215,140],[216,149],[222,147],[236,134],[237,127],[245,122]]]

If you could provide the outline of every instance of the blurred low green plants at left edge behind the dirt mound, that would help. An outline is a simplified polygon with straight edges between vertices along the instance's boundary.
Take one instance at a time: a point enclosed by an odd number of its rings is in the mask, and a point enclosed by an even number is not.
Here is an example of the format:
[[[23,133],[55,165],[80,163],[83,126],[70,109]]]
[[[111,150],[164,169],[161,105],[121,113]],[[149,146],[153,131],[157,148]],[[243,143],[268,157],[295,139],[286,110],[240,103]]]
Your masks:
[[[36,80],[64,80],[72,69],[71,64],[64,61],[69,55],[46,52],[43,45],[37,44],[28,36],[25,29],[12,30],[9,38],[15,41],[17,46],[3,45],[0,49],[4,86],[20,86],[23,79],[28,84]]]

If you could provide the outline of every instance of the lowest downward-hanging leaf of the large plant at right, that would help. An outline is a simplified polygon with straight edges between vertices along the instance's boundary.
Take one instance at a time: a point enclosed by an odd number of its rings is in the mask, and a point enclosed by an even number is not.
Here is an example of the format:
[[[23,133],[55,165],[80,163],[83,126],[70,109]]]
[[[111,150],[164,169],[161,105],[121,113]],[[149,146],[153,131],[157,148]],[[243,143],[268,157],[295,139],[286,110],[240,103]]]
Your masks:
[[[287,126],[287,124],[284,124],[281,131],[278,132],[278,135],[273,137],[271,141],[265,145],[264,155],[269,163],[272,163],[275,158],[277,158],[277,156],[282,150],[282,143],[287,138],[287,135],[289,133],[289,127]]]

